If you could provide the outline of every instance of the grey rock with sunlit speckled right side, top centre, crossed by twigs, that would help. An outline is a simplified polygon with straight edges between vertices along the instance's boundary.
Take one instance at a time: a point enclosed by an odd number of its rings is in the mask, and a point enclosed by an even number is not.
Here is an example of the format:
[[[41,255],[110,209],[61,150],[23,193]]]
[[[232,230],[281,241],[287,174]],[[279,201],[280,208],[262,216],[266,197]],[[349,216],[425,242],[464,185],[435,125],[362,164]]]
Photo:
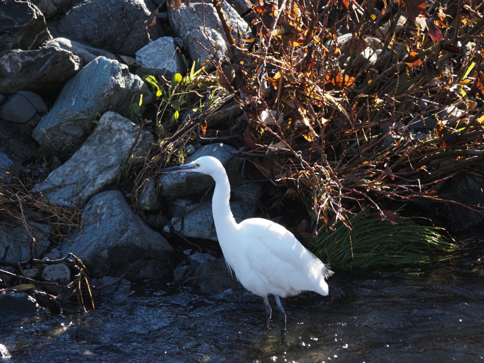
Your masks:
[[[225,12],[228,26],[232,29],[232,37],[238,40],[240,31],[242,39],[247,38],[250,27],[245,20],[227,2],[223,2],[222,9]],[[168,19],[175,34],[187,45],[191,61],[203,62],[211,58],[204,47],[213,53],[213,46],[215,46],[218,59],[224,59],[227,56],[227,37],[211,3],[205,2],[205,8],[201,2],[192,2],[190,6],[181,4],[176,11],[168,11]],[[207,39],[207,36],[210,40]],[[209,64],[207,67],[212,68],[212,65]]]

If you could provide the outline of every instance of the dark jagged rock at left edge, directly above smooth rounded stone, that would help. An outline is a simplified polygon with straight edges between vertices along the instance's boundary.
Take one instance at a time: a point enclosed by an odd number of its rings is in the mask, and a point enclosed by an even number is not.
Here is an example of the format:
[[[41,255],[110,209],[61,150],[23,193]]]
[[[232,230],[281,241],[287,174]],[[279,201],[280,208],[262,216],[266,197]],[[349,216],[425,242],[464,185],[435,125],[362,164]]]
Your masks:
[[[59,88],[81,67],[79,57],[55,47],[4,51],[0,54],[0,93]]]

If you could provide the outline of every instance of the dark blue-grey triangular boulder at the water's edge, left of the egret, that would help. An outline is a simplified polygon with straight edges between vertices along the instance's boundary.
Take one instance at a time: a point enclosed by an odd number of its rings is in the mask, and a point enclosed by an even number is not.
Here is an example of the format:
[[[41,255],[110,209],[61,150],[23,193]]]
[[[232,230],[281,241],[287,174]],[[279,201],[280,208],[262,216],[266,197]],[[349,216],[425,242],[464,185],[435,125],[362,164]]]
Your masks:
[[[119,191],[92,197],[83,212],[84,227],[62,243],[64,255],[79,257],[91,275],[121,274],[141,258],[138,276],[161,277],[169,270],[173,249],[135,215]],[[91,222],[91,223],[89,223]],[[75,241],[75,242],[70,242]]]

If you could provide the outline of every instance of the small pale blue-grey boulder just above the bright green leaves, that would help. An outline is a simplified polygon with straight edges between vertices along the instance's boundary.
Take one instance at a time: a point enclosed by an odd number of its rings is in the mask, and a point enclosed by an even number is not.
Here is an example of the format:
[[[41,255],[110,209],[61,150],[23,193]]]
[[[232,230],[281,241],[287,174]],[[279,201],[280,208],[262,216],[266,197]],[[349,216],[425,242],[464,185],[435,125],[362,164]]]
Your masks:
[[[137,74],[139,76],[183,75],[185,64],[181,60],[180,49],[173,38],[161,37],[148,43],[136,52]]]

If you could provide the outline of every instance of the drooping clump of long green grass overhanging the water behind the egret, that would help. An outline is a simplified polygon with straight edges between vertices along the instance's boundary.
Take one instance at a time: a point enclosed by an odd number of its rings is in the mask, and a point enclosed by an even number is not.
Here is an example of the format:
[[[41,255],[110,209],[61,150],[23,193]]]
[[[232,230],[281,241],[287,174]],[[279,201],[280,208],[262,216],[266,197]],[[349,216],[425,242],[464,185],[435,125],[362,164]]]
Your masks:
[[[405,271],[409,267],[452,258],[459,246],[448,242],[443,228],[425,226],[422,217],[397,217],[394,224],[365,211],[335,230],[318,235],[309,249],[333,268],[360,272]],[[421,222],[421,223],[417,223]]]

